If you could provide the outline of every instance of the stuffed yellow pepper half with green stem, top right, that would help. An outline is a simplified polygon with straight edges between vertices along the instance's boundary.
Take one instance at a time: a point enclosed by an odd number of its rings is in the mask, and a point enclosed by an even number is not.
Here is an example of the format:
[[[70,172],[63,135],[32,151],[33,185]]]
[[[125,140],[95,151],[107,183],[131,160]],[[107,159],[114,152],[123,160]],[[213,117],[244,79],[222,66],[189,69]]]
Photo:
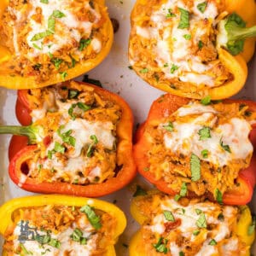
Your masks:
[[[254,0],[137,0],[131,67],[148,84],[177,96],[228,98],[246,82],[255,25]]]

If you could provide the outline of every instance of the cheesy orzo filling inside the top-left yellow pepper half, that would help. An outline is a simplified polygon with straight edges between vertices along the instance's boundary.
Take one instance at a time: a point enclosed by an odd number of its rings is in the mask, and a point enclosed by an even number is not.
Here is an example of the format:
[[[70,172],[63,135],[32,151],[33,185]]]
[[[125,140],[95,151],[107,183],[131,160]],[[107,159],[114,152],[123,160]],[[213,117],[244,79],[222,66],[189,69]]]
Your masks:
[[[11,0],[3,13],[1,44],[15,55],[3,72],[38,82],[60,74],[77,62],[96,58],[107,44],[106,9],[98,1]]]

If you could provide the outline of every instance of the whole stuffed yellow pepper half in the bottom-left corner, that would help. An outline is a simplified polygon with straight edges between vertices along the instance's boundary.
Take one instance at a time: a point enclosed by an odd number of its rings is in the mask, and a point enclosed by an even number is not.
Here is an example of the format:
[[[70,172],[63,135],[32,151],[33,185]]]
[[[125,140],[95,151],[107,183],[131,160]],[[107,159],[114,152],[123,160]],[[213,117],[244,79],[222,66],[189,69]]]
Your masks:
[[[113,204],[65,195],[16,198],[0,207],[0,218],[3,256],[115,256],[126,225]]]

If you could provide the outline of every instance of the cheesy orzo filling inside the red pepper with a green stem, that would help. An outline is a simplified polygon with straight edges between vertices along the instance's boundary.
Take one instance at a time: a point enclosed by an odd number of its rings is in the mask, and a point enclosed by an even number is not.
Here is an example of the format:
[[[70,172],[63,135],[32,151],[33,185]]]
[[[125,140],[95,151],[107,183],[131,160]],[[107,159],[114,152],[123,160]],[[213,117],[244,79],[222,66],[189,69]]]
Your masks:
[[[76,82],[30,90],[28,100],[33,127],[41,131],[27,173],[21,166],[21,183],[32,177],[86,185],[116,175],[119,105]]]

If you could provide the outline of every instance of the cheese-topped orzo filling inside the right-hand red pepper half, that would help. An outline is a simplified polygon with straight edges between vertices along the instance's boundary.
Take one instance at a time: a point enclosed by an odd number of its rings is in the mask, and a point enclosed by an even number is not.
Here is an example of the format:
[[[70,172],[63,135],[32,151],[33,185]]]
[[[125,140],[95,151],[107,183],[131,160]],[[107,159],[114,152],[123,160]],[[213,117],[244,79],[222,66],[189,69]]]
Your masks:
[[[194,195],[223,195],[239,185],[239,172],[250,164],[255,117],[246,105],[227,102],[206,106],[193,101],[166,113],[157,124],[146,125],[145,172],[164,179],[174,192],[186,188]]]

